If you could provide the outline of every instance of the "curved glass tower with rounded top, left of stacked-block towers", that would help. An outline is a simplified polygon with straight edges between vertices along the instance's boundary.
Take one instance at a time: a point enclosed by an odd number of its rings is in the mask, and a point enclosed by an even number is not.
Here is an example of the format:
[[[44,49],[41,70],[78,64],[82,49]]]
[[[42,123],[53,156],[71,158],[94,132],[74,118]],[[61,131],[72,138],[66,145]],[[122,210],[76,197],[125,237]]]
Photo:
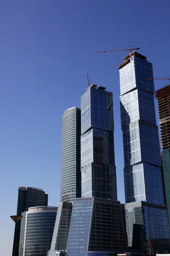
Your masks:
[[[61,202],[81,197],[80,136],[81,109],[69,108],[62,116]]]

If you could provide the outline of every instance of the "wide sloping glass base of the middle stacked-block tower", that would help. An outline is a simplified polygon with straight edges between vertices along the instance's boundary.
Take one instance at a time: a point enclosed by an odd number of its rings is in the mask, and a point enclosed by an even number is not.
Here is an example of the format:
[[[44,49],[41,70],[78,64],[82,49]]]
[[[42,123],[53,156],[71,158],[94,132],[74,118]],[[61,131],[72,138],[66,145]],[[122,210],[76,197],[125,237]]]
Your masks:
[[[75,199],[67,253],[87,256],[88,251],[127,250],[127,239],[119,201],[102,198]]]

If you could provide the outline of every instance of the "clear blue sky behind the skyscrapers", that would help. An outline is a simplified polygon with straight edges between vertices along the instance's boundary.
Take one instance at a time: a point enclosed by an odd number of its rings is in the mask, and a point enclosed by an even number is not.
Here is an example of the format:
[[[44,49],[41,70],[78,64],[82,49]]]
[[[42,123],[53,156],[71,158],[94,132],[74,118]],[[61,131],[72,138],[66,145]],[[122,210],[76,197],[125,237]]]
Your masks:
[[[169,76],[168,0],[0,1],[0,248],[12,252],[19,186],[59,202],[61,119],[91,84],[113,92],[118,199],[125,202],[119,70],[132,44]],[[156,81],[158,89],[167,81]]]

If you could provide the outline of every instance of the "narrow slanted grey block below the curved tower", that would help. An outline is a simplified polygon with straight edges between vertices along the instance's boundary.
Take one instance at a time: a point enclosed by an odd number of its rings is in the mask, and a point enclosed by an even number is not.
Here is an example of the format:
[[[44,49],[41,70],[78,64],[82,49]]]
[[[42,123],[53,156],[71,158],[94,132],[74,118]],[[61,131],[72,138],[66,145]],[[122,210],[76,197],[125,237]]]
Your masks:
[[[50,250],[66,250],[72,207],[72,203],[59,204]]]

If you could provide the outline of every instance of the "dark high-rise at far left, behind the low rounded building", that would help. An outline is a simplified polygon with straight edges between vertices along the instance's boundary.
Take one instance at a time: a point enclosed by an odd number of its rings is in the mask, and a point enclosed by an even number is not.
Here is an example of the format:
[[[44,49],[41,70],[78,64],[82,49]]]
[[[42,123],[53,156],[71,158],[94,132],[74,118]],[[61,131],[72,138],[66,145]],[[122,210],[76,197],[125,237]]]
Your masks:
[[[20,187],[18,189],[17,215],[21,215],[29,207],[48,205],[48,195],[42,189],[32,187]],[[14,254],[18,256],[20,243],[20,225],[21,221],[17,222],[14,241]]]

